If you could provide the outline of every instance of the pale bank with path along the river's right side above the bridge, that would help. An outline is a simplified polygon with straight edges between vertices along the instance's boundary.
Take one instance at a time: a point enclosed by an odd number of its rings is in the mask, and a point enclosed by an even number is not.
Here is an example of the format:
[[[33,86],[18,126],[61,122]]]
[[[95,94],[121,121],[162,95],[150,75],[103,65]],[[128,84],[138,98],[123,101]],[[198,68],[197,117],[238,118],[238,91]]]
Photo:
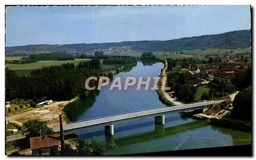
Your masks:
[[[175,98],[171,97],[171,93],[167,92],[166,90],[162,90],[162,81],[163,81],[163,77],[167,77],[166,76],[166,69],[167,69],[167,61],[164,62],[164,68],[161,70],[160,73],[160,79],[158,81],[158,90],[157,90],[157,94],[159,96],[159,100],[166,104],[166,105],[179,105],[182,104],[181,102],[178,102]],[[167,81],[167,79],[166,79]]]

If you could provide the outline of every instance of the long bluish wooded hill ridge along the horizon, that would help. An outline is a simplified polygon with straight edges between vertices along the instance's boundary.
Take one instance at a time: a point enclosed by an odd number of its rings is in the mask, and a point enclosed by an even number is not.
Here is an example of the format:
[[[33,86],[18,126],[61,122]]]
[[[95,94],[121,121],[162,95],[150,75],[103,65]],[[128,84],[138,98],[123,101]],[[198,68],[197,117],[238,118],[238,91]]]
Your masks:
[[[222,34],[186,37],[173,40],[143,40],[111,43],[79,44],[35,44],[6,47],[6,56],[24,56],[47,52],[92,52],[113,47],[125,47],[135,51],[185,51],[202,48],[236,49],[250,47],[250,30],[232,31]]]

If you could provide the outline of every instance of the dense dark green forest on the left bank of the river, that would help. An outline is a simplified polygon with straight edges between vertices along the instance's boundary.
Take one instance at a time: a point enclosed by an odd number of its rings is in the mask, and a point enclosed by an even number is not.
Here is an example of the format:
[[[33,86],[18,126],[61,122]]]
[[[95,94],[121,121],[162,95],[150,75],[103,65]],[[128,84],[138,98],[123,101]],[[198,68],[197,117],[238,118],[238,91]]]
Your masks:
[[[74,63],[64,63],[42,67],[32,70],[29,76],[16,76],[13,70],[6,67],[6,101],[70,100],[84,94],[86,79],[91,76],[97,77],[99,73],[99,59],[80,62],[76,66]]]

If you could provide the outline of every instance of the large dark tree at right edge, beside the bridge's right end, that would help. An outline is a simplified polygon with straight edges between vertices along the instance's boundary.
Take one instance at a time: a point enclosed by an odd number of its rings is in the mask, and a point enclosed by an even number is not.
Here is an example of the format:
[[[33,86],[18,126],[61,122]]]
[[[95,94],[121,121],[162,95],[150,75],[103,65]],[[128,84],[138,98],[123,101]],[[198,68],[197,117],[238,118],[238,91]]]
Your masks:
[[[242,121],[252,121],[252,93],[248,87],[234,97],[230,117]]]

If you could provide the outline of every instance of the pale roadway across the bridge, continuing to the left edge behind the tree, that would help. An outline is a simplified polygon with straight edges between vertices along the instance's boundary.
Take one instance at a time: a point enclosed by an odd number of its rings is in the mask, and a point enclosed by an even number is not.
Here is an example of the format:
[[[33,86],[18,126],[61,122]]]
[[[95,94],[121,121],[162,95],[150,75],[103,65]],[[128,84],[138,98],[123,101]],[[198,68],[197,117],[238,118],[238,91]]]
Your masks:
[[[168,112],[183,112],[183,111],[191,111],[197,109],[204,109],[204,106],[210,106],[212,103],[221,103],[223,100],[219,101],[211,101],[211,102],[197,102],[197,103],[190,103],[190,104],[180,104],[170,107],[158,107],[158,108],[151,108],[145,109],[140,111],[133,111],[128,113],[120,113],[117,115],[99,117],[94,119],[76,121],[69,124],[63,124],[63,132],[65,134],[69,132],[73,132],[75,129],[83,128],[83,127],[90,127],[94,125],[110,125],[113,122],[127,120],[127,119],[135,119],[141,118],[144,116],[161,116]],[[59,125],[58,126],[51,126],[54,132],[59,132]],[[22,139],[23,136],[20,134],[7,136],[7,141],[13,141],[17,139]]]

